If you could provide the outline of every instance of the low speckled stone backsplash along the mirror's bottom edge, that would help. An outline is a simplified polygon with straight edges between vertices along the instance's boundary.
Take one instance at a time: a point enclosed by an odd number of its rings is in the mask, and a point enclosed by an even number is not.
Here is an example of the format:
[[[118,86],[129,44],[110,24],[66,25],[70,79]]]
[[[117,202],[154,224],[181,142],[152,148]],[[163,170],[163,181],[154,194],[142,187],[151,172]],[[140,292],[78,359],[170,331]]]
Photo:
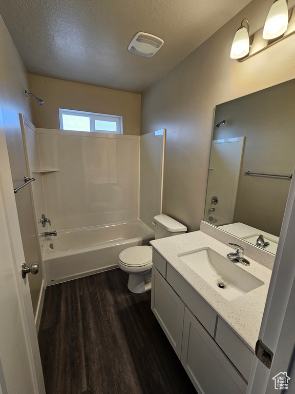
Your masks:
[[[215,238],[216,240],[222,242],[225,245],[228,245],[229,242],[238,244],[242,246],[248,257],[258,261],[260,264],[265,267],[272,269],[273,263],[275,263],[275,254],[269,253],[267,250],[259,248],[256,245],[253,245],[245,240],[242,240],[239,237],[235,237],[235,235],[230,234],[219,227],[213,226],[212,224],[201,221],[201,231],[210,235],[210,237]]]

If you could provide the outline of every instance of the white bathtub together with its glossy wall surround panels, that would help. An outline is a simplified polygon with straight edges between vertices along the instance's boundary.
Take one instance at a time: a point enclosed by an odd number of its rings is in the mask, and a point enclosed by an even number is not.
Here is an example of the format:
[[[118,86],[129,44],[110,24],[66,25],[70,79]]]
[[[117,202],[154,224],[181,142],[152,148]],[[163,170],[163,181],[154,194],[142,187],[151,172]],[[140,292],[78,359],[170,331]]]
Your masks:
[[[57,231],[57,237],[40,238],[46,245],[46,285],[112,269],[123,249],[149,244],[151,215],[161,212],[164,130],[142,138],[148,226],[138,220],[139,136],[35,128],[31,134],[28,160],[38,180],[34,203],[39,216],[45,213],[52,223],[38,232]]]

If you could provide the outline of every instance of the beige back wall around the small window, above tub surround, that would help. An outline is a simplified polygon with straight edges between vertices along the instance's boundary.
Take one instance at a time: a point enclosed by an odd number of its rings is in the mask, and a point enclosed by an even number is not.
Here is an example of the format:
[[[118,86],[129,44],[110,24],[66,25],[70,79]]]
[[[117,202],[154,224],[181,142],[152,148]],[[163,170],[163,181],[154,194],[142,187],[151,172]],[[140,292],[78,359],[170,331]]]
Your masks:
[[[45,101],[33,106],[33,124],[59,129],[58,109],[74,109],[123,117],[123,134],[140,135],[140,94],[55,80],[29,74],[30,92]]]

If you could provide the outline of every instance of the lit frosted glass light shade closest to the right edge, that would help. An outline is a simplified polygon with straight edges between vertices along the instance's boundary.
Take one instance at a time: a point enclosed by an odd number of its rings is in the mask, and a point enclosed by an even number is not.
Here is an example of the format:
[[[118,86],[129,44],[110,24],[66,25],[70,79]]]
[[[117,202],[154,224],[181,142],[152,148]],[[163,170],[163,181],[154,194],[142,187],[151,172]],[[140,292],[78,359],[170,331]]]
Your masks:
[[[286,0],[277,0],[272,4],[263,29],[263,38],[277,38],[288,28],[288,6]]]

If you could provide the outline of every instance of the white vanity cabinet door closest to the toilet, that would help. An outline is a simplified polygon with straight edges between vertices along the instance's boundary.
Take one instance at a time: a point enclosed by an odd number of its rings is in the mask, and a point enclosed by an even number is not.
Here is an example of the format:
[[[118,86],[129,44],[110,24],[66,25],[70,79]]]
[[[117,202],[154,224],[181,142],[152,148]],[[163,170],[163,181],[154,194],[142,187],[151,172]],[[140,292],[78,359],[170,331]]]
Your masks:
[[[181,354],[184,307],[185,304],[176,292],[153,267],[152,311],[179,358]]]

